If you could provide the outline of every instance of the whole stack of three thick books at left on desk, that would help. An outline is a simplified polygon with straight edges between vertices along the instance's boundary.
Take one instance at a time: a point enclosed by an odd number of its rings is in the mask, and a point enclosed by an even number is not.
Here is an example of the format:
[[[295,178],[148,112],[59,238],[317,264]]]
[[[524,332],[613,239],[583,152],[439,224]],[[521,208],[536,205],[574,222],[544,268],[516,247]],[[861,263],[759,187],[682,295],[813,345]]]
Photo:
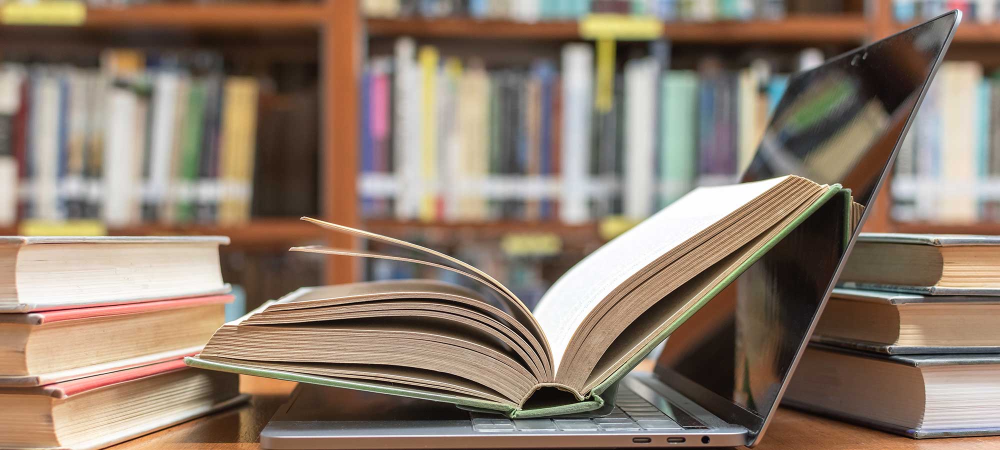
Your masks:
[[[0,237],[0,448],[100,448],[242,400],[183,363],[232,301],[227,242]]]

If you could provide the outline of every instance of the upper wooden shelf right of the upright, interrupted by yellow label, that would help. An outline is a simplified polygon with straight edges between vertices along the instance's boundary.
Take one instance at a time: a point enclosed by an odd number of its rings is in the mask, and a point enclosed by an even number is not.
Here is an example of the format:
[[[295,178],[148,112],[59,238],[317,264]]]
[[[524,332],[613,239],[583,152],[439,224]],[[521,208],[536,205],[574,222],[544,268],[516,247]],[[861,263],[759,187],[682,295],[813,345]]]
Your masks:
[[[368,19],[369,36],[464,39],[548,39],[580,37],[577,23],[526,23],[475,19]],[[677,22],[664,24],[664,36],[676,42],[740,44],[759,42],[861,42],[868,25],[861,15],[792,16],[782,20]]]

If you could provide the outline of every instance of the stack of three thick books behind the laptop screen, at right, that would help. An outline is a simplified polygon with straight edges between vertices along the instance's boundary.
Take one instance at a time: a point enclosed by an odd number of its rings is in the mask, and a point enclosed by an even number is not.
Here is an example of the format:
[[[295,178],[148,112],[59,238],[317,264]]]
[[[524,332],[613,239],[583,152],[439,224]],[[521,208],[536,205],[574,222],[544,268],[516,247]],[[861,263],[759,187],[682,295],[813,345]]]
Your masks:
[[[1000,237],[862,234],[785,403],[914,438],[1000,434]]]

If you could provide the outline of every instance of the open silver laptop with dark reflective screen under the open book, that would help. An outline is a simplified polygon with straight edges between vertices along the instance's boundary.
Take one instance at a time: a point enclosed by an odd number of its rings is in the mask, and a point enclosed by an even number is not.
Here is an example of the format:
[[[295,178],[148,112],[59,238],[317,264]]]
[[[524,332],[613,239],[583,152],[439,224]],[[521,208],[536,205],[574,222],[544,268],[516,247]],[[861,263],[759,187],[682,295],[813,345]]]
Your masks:
[[[796,174],[841,183],[870,206],[960,19],[957,10],[943,14],[794,75],[742,181]],[[846,229],[845,206],[830,202],[814,213],[737,279],[731,299],[712,300],[678,328],[654,372],[633,372],[618,385],[610,414],[507,419],[300,384],[261,432],[261,445],[752,447],[774,416],[856,238],[829,239]]]

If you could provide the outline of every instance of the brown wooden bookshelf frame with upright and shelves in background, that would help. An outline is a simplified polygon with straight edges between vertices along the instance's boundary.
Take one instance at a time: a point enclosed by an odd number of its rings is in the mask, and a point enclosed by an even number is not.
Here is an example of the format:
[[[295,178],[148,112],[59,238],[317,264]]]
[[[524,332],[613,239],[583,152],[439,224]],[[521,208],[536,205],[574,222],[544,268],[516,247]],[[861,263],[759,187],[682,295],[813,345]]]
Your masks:
[[[889,1],[845,2],[855,12],[831,15],[791,15],[777,21],[752,20],[664,24],[664,34],[676,44],[760,46],[777,45],[856,45],[905,28],[892,18]],[[862,3],[868,7],[863,13]],[[470,19],[364,19],[359,2],[323,0],[316,3],[162,3],[91,8],[79,27],[123,33],[145,30],[198,30],[209,32],[315,32],[318,42],[320,78],[320,211],[337,223],[361,226],[376,232],[403,236],[410,231],[442,230],[473,233],[487,237],[506,233],[544,231],[581,239],[599,239],[597,224],[564,225],[558,222],[472,222],[423,223],[395,220],[363,220],[357,199],[359,158],[359,97],[355,89],[362,59],[370,38],[402,35],[417,38],[468,40],[469,45],[487,40],[573,41],[579,39],[572,21],[524,23],[506,20]],[[5,31],[28,31],[45,27],[0,25]],[[57,27],[51,27],[57,28]],[[59,27],[62,28],[62,27]],[[1000,25],[966,21],[959,29],[955,46],[984,45],[971,50],[990,57],[989,44],[1000,44]],[[179,45],[184,45],[183,43]],[[978,53],[977,53],[978,52]],[[883,191],[883,194],[886,192]],[[884,203],[884,200],[881,200]],[[872,231],[933,231],[1000,233],[1000,224],[896,223],[887,208],[876,207],[869,220]],[[226,234],[234,245],[272,245],[302,241],[324,241],[349,247],[350,238],[323,232],[295,218],[253,219],[238,227],[137,226],[113,229],[114,234]],[[15,228],[0,233],[16,233]],[[348,258],[334,258],[325,268],[326,282],[351,281],[359,275],[359,265]]]

